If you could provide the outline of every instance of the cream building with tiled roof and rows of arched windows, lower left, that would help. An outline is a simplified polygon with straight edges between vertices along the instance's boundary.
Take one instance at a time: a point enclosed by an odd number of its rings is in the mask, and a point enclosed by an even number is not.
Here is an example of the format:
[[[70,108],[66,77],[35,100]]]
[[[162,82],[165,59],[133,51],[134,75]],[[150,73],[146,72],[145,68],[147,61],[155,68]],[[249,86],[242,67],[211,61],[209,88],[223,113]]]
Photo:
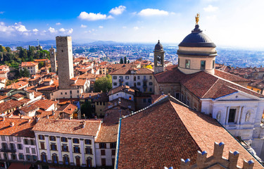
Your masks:
[[[96,167],[94,138],[101,120],[41,119],[32,129],[43,165]]]

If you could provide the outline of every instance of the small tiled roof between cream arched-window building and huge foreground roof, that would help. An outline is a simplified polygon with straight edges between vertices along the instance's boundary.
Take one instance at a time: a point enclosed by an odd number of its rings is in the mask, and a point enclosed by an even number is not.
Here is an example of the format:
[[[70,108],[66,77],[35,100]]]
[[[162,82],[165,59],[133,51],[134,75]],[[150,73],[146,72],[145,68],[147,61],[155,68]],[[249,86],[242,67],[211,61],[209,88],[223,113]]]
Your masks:
[[[102,123],[95,142],[116,142],[118,139],[118,124],[107,125]]]

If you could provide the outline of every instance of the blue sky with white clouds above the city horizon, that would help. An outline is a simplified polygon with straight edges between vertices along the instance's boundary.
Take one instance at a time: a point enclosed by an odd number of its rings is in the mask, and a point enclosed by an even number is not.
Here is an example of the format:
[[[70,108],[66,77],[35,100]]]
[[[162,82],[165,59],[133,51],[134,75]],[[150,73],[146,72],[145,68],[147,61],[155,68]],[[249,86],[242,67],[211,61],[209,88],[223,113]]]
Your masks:
[[[217,46],[264,49],[263,0],[1,1],[0,41],[177,44],[199,25]]]

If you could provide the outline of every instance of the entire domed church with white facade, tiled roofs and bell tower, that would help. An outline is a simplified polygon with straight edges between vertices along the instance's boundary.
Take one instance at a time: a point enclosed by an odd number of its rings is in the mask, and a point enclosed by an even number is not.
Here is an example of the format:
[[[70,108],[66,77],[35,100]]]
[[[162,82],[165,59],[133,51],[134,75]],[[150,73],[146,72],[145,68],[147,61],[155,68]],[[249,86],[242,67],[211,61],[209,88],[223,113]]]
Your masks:
[[[244,78],[215,70],[216,46],[198,23],[179,44],[178,65],[165,70],[163,47],[160,42],[156,46],[155,94],[170,94],[190,108],[212,116],[264,158],[264,96],[247,89]]]

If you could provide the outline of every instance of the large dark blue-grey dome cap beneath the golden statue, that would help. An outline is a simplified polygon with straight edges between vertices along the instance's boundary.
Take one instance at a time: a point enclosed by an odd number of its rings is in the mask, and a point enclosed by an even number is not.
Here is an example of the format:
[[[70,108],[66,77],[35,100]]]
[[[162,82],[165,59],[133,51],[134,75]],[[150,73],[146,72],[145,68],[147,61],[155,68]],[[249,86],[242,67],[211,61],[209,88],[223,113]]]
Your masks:
[[[194,30],[192,30],[191,33],[182,40],[179,46],[215,47],[215,44],[212,42],[212,40],[207,35],[203,34],[203,31],[199,29],[199,25],[195,25]]]

